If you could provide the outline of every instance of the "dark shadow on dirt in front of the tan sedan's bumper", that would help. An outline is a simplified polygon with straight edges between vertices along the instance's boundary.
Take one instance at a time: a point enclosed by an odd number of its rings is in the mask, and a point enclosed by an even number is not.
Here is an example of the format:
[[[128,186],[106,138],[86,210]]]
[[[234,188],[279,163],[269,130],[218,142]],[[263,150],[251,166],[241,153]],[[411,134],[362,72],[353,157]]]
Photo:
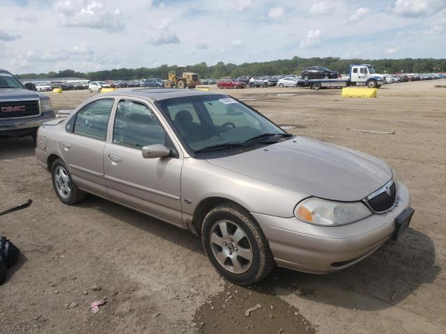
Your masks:
[[[275,268],[254,289],[341,308],[382,310],[400,303],[440,273],[432,240],[409,228],[399,241],[387,241],[374,254],[347,269],[326,275]]]

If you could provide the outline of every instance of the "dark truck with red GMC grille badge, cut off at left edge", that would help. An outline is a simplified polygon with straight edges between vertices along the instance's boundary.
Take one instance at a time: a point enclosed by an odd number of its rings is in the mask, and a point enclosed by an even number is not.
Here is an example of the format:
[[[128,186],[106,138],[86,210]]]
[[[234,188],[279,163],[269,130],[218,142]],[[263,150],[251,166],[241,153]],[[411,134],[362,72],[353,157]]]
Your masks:
[[[0,138],[29,135],[36,140],[38,127],[56,118],[49,97],[33,91],[31,83],[25,86],[0,69]]]

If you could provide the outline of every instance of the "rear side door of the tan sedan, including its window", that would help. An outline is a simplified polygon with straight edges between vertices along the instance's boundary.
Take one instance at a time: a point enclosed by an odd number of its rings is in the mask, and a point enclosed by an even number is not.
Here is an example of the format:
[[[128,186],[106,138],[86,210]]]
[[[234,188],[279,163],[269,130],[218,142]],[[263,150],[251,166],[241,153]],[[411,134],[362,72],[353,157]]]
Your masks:
[[[114,98],[95,100],[71,116],[57,145],[79,188],[106,197],[104,163],[105,139]]]

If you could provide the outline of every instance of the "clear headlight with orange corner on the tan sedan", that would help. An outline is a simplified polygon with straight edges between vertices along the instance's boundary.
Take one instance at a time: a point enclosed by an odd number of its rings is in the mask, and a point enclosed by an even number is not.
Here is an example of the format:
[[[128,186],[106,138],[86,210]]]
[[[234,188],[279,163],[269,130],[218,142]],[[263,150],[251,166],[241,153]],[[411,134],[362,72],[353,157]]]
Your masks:
[[[306,223],[321,226],[339,226],[360,221],[371,212],[362,202],[332,202],[309,198],[295,208],[295,216]]]

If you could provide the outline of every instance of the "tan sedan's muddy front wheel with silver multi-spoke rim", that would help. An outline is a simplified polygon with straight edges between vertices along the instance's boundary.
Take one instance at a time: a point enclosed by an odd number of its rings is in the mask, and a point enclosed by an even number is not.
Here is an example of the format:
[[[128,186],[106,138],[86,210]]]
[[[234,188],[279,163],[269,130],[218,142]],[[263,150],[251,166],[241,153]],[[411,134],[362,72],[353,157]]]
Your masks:
[[[239,285],[259,282],[275,265],[259,225],[249,212],[233,203],[208,212],[201,228],[201,241],[215,269]]]

